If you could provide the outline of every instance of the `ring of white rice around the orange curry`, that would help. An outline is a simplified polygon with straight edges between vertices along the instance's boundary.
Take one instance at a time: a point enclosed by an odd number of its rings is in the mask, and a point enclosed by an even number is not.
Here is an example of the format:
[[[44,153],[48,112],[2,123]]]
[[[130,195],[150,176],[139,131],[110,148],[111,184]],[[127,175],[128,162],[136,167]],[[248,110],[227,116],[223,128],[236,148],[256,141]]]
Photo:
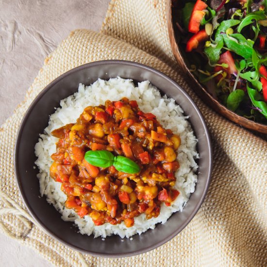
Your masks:
[[[123,97],[136,100],[140,109],[153,113],[166,129],[181,137],[181,146],[178,149],[177,159],[180,168],[177,170],[175,188],[179,190],[178,198],[167,207],[162,204],[160,215],[147,220],[145,215],[134,218],[134,226],[127,228],[121,224],[112,225],[105,223],[95,226],[90,216],[80,218],[72,209],[65,207],[66,195],[61,191],[61,183],[56,183],[50,178],[51,154],[56,151],[57,138],[50,133],[67,123],[75,123],[76,119],[87,106],[104,104],[105,100],[116,101]],[[162,97],[159,90],[149,81],[138,83],[136,87],[132,80],[113,78],[109,81],[99,79],[90,86],[79,85],[78,92],[60,101],[60,108],[50,116],[50,121],[44,134],[40,134],[39,142],[35,145],[35,154],[38,157],[35,164],[40,170],[37,175],[40,182],[41,196],[45,195],[47,201],[62,214],[65,221],[73,221],[81,234],[94,234],[95,237],[118,234],[121,238],[141,234],[148,229],[154,229],[157,223],[165,223],[172,213],[182,211],[191,193],[195,191],[197,183],[196,170],[198,168],[195,159],[198,158],[196,150],[197,139],[193,134],[188,117],[183,115],[182,108],[173,99]]]

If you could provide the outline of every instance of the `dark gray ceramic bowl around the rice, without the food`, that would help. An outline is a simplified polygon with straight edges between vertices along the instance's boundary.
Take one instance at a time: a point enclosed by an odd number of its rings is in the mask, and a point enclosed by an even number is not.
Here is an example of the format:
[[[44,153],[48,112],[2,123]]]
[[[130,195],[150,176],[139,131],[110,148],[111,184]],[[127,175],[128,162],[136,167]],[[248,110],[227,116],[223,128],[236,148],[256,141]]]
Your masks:
[[[159,224],[154,230],[141,235],[134,235],[133,240],[117,235],[101,238],[82,235],[72,222],[65,222],[61,215],[49,205],[46,198],[39,198],[38,169],[33,169],[36,157],[34,145],[38,136],[48,125],[49,115],[54,107],[59,107],[60,100],[77,91],[78,84],[86,85],[98,78],[109,79],[120,76],[133,79],[134,82],[149,80],[163,94],[174,98],[190,117],[190,123],[199,139],[198,151],[199,174],[196,191],[190,196],[183,212],[173,214],[165,224]],[[15,169],[17,184],[21,196],[36,222],[53,238],[65,245],[82,252],[104,257],[133,256],[155,249],[180,233],[200,208],[206,195],[212,166],[211,141],[204,119],[193,100],[184,90],[163,73],[128,61],[99,61],[76,67],[50,83],[29,107],[17,134],[15,148]]]

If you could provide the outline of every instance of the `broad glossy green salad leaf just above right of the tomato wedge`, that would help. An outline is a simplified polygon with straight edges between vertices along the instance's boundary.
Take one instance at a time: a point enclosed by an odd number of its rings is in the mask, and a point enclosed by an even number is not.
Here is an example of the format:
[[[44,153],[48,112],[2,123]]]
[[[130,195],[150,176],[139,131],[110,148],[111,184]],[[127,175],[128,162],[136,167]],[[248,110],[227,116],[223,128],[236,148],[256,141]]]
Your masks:
[[[229,36],[226,34],[223,35],[223,40],[227,48],[246,59],[252,57],[254,45],[254,42],[252,40],[246,39],[240,33],[233,33]],[[231,38],[237,40],[238,43]]]

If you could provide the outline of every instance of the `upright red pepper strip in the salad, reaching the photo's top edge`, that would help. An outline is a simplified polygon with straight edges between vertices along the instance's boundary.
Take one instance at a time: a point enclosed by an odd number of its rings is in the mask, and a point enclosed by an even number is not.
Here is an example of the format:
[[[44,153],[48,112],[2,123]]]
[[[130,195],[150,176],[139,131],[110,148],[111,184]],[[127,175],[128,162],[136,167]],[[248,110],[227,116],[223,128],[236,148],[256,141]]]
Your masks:
[[[197,0],[195,3],[188,24],[188,31],[190,33],[198,33],[200,31],[200,21],[205,16],[203,10],[206,9],[207,6],[208,5],[201,0]]]

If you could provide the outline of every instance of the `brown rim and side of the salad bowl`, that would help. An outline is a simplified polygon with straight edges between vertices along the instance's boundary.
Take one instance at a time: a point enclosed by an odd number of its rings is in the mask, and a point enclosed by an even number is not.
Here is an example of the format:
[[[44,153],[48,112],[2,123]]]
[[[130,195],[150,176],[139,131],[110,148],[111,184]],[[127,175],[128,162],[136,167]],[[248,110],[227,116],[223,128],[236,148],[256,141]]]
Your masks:
[[[172,8],[171,0],[167,0],[167,26],[168,34],[171,44],[172,52],[184,72],[184,78],[189,83],[189,85],[194,89],[198,96],[210,107],[212,107],[220,115],[227,117],[231,121],[243,126],[252,131],[267,134],[267,125],[262,123],[254,122],[248,118],[242,117],[235,112],[229,110],[227,107],[222,105],[217,99],[215,99],[205,87],[203,87],[196,77],[191,73],[189,67],[185,63],[185,53],[182,48],[179,46],[177,37],[179,36],[178,31],[175,27],[175,15],[173,14],[174,10]]]

